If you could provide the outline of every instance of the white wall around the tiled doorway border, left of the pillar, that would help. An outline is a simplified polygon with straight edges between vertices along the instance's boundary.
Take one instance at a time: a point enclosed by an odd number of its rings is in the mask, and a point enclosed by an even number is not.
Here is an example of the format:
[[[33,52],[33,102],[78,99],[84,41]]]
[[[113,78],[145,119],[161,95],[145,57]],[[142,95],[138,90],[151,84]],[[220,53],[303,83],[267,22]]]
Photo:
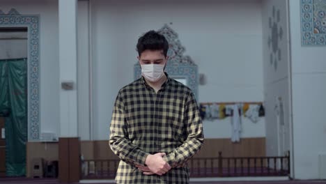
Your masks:
[[[58,2],[1,0],[0,9],[40,15],[40,132],[59,133]]]

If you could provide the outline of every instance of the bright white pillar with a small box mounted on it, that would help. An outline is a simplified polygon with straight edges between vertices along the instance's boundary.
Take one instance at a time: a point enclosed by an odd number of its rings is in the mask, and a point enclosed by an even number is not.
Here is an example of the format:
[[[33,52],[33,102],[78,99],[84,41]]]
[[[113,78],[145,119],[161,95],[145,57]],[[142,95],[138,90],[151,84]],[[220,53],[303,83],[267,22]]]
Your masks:
[[[77,137],[77,0],[59,0],[59,68],[59,137]],[[63,89],[63,82],[72,89]]]

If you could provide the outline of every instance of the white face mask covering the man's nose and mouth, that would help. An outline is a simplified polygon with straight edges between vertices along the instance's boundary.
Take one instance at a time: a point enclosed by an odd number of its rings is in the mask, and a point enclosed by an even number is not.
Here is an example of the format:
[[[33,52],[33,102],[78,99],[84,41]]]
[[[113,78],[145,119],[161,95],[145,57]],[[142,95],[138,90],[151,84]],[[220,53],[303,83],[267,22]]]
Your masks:
[[[141,75],[150,82],[157,82],[164,75],[164,65],[146,64],[141,65]]]

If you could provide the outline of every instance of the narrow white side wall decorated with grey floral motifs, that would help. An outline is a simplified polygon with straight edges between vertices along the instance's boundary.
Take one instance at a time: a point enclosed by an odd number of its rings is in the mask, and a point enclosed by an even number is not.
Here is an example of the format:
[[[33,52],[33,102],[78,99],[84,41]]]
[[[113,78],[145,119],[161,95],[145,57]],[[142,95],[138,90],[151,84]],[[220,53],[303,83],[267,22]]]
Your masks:
[[[288,10],[286,1],[284,0],[265,0],[263,1],[262,8],[264,98],[266,107],[266,153],[270,156],[284,156],[284,152],[290,150]],[[270,20],[272,26],[270,26]],[[278,36],[276,37],[272,36],[272,27],[274,26],[274,23],[277,25],[277,29],[275,30],[277,31]],[[274,52],[273,49],[272,39],[274,39],[274,46],[277,48],[276,52]],[[270,45],[268,44],[269,40]],[[281,58],[279,58],[279,52],[281,54]],[[270,61],[271,54],[273,61],[272,63]],[[277,61],[277,67],[274,66],[275,59]],[[277,112],[275,109],[278,98],[281,98],[284,105],[284,140],[281,136],[279,136],[281,133],[281,125],[278,124]],[[282,146],[283,141],[284,146]]]

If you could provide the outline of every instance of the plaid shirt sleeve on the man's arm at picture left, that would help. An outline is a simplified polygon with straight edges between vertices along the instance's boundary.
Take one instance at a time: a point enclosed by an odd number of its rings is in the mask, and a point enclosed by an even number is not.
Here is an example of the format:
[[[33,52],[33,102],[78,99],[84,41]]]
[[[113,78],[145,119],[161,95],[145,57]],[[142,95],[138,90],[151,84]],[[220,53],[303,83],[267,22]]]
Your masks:
[[[138,146],[132,144],[128,138],[127,121],[123,98],[118,93],[110,124],[109,146],[111,150],[124,162],[134,166],[135,164],[145,165],[149,153],[142,151]]]

